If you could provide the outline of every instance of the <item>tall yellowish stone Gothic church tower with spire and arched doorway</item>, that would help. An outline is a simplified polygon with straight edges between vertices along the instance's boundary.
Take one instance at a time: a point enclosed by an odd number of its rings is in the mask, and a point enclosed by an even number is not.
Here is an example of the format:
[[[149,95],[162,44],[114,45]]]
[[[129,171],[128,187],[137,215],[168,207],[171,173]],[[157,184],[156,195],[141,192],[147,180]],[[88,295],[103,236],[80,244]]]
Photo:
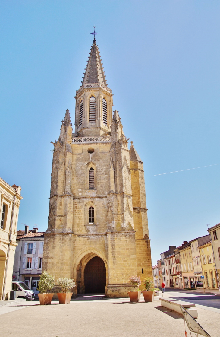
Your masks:
[[[73,278],[78,293],[127,297],[129,278],[152,276],[143,162],[112,113],[94,38],[76,91],[75,130],[69,110],[54,144],[43,270]]]

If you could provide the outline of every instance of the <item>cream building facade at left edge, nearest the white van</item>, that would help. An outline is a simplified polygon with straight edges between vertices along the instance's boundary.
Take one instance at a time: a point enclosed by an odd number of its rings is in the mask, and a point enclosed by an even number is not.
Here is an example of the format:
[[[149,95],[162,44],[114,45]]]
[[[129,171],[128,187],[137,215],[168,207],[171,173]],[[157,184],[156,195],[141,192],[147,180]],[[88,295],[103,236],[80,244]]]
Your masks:
[[[0,178],[0,299],[10,297],[21,187]]]

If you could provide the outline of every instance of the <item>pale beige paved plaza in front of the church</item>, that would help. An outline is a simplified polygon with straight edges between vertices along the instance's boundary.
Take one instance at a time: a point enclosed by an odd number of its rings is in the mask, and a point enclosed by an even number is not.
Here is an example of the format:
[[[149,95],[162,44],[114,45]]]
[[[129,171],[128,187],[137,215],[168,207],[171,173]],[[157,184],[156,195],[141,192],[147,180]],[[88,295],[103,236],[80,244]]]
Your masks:
[[[142,295],[143,296],[143,295]],[[101,298],[101,300],[99,300]],[[0,308],[1,336],[16,337],[184,337],[181,314],[128,298],[77,297],[70,304],[40,306],[38,301]],[[198,310],[198,323],[211,337],[220,335],[220,309]],[[213,324],[215,322],[215,324]],[[188,331],[188,330],[187,330]],[[189,331],[187,336],[190,336]]]

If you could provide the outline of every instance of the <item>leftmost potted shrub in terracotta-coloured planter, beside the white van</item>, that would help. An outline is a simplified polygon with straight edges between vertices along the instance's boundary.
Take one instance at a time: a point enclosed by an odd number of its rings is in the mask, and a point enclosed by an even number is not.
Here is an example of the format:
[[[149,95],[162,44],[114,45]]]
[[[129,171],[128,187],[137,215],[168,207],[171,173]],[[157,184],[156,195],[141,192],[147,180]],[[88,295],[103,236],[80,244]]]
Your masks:
[[[52,289],[55,285],[55,278],[51,276],[49,273],[44,271],[40,275],[40,281],[38,283],[38,290],[40,294],[38,294],[40,305],[51,304],[52,297],[54,293],[47,293],[50,289]]]

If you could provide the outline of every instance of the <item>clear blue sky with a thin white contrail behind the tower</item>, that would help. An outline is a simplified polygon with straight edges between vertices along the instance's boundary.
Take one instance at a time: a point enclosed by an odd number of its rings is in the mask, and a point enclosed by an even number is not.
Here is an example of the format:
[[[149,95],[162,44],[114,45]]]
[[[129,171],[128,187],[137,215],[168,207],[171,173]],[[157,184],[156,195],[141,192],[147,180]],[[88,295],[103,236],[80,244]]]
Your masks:
[[[114,109],[144,161],[152,263],[220,222],[220,2],[1,1],[0,176],[47,228],[53,149],[74,124],[93,26]]]

